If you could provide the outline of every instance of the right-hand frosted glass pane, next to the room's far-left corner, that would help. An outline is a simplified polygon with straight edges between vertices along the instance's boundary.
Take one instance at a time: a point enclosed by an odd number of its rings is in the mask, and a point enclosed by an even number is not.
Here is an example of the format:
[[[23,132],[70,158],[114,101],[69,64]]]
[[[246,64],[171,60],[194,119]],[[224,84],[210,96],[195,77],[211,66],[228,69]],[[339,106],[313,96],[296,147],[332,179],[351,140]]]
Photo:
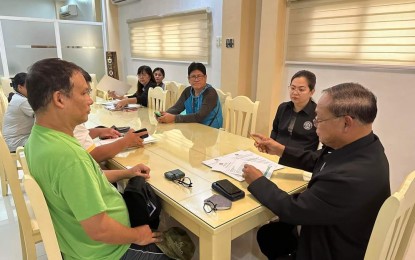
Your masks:
[[[101,25],[59,24],[62,58],[76,63],[98,81],[105,74]]]

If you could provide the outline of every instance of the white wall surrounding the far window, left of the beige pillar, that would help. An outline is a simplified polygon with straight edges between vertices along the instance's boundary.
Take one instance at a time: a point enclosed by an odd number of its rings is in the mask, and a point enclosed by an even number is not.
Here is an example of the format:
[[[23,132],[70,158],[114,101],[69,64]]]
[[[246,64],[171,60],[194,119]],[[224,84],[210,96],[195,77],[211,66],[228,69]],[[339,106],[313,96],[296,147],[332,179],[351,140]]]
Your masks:
[[[130,41],[128,34],[128,19],[145,16],[163,15],[209,7],[212,11],[211,27],[211,59],[206,65],[208,83],[219,88],[221,80],[221,50],[216,47],[216,36],[222,35],[222,1],[221,0],[140,0],[136,3],[121,5],[118,8],[120,46],[122,53],[117,53],[123,64],[120,79],[125,80],[129,74],[136,75],[137,68],[148,65],[152,69],[162,67],[166,72],[165,80],[174,80],[188,84],[187,67],[189,63],[161,62],[131,59]]]

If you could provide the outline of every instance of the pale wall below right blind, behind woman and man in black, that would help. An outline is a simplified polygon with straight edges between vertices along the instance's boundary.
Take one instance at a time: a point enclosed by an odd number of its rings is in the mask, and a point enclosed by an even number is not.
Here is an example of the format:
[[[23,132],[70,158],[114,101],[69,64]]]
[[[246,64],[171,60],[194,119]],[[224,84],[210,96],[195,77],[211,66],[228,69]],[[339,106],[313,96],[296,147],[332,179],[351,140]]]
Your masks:
[[[315,100],[321,96],[321,90],[344,82],[360,83],[376,95],[378,115],[374,122],[374,133],[382,141],[389,160],[392,192],[399,189],[406,175],[415,170],[415,120],[411,112],[415,97],[415,72],[362,67],[288,65],[285,86],[289,85],[291,76],[302,69],[316,74]],[[285,86],[284,91],[287,92]],[[289,100],[288,93],[285,97]]]

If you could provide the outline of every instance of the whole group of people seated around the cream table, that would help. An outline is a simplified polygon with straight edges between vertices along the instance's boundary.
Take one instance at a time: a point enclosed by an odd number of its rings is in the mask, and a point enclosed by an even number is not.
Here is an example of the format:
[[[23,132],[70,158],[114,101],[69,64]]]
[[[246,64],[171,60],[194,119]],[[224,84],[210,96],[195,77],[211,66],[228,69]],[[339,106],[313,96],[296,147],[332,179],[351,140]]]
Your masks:
[[[52,72],[56,77],[43,76]],[[164,78],[164,70],[141,66],[137,76],[134,95],[124,98],[111,93],[120,99],[119,106],[146,106],[148,89],[157,86],[157,77]],[[125,147],[142,145],[140,135],[130,130],[119,146],[112,143],[107,152],[96,150],[99,147],[94,147],[92,138],[117,137],[119,133],[85,128],[93,102],[88,95],[91,79],[71,62],[41,60],[32,65],[26,82],[15,78],[17,94],[10,104],[28,102],[32,108],[28,117],[33,121],[34,113],[36,122],[29,138],[9,147],[12,151],[16,145],[25,145],[30,171],[48,201],[65,259],[139,259],[149,255],[165,259],[154,246],[162,239],[160,233],[148,226],[131,228],[125,203],[110,185],[132,176],[149,178],[150,168],[138,164],[102,174],[97,164]],[[207,84],[205,66],[191,63],[188,80],[190,86],[176,104],[161,111],[158,121],[198,122],[220,128],[222,109],[215,89]],[[313,173],[304,192],[290,195],[258,169],[245,165],[248,190],[279,216],[279,222],[261,227],[257,241],[269,259],[286,255],[293,259],[363,259],[377,212],[390,195],[388,161],[372,131],[376,97],[357,83],[344,83],[325,89],[316,104],[312,99],[315,85],[312,72],[297,72],[288,86],[291,101],[278,107],[270,137],[252,133],[259,151],[278,155],[281,164]],[[76,141],[74,136],[84,140]],[[320,141],[323,149],[316,151]],[[297,225],[302,226],[301,232]]]

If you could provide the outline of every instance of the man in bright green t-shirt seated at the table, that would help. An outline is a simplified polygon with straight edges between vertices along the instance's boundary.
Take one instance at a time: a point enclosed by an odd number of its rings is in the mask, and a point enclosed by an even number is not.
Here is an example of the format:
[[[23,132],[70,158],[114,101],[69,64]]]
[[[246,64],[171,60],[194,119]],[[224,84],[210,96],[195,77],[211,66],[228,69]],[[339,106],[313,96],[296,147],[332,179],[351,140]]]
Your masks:
[[[45,76],[46,75],[46,76]],[[26,80],[36,123],[25,146],[29,170],[52,217],[64,259],[168,259],[154,244],[160,232],[131,228],[121,194],[110,182],[150,177],[150,169],[103,173],[73,137],[93,104],[82,69],[57,58],[34,63]]]

